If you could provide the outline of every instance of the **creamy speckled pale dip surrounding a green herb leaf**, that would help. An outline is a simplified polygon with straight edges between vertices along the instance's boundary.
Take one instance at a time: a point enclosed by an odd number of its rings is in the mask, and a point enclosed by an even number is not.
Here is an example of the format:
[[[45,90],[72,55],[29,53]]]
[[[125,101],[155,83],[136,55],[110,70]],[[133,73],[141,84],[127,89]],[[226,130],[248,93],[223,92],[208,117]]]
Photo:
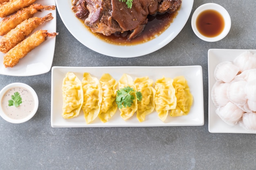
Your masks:
[[[19,92],[22,98],[22,103],[18,106],[8,106],[8,100],[11,100],[11,95],[14,92]],[[35,107],[35,102],[32,94],[24,87],[13,87],[4,94],[1,100],[2,110],[4,113],[12,119],[22,119],[26,118]]]

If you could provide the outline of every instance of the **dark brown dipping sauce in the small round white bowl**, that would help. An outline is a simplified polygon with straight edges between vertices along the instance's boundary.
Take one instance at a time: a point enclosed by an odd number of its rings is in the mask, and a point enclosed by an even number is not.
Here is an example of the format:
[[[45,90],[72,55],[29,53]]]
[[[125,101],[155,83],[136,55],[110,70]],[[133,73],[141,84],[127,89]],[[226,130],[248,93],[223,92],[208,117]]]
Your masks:
[[[199,33],[205,37],[216,37],[224,30],[223,16],[215,10],[202,11],[196,19],[196,27]]]

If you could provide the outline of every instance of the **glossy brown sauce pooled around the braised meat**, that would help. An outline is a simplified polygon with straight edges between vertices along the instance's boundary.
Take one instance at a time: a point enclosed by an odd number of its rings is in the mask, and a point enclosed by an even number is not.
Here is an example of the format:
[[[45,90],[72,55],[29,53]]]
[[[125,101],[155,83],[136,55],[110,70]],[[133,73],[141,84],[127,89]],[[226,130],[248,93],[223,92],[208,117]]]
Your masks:
[[[129,31],[124,33],[117,32],[110,36],[105,36],[101,33],[92,33],[88,26],[85,25],[85,27],[96,37],[106,41],[107,43],[122,46],[132,46],[145,43],[162,34],[173,22],[173,19],[177,16],[179,9],[173,13],[156,14],[154,16],[148,15],[148,23],[146,24],[144,31],[134,39],[127,39]],[[83,20],[81,21],[83,22]]]

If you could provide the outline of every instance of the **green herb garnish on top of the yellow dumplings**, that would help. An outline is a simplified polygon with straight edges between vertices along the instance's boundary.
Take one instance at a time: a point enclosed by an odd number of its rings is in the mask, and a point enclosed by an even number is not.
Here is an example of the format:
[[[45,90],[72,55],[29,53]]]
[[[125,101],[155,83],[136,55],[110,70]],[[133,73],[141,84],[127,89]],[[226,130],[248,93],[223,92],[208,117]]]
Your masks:
[[[135,99],[135,95],[137,97],[137,100],[141,101],[142,99],[141,92],[137,92],[129,86],[117,90],[117,97],[116,97],[117,107],[119,109],[121,109],[122,107],[131,107],[133,100]]]

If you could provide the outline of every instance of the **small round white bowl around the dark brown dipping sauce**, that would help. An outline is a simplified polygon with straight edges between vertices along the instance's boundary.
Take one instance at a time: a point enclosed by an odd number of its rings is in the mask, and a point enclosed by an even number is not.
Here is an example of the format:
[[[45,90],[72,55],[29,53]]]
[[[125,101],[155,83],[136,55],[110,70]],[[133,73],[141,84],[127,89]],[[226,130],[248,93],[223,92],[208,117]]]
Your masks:
[[[196,19],[197,19],[198,15],[202,11],[209,10],[209,9],[218,11],[222,15],[222,17],[225,21],[225,26],[224,26],[222,33],[220,33],[216,37],[205,37],[204,35],[200,34],[200,32],[198,31],[198,29],[196,27]],[[231,28],[231,18],[229,16],[229,13],[227,12],[227,10],[225,8],[223,8],[222,6],[220,6],[219,4],[207,3],[207,4],[202,4],[200,7],[198,7],[194,11],[192,18],[191,18],[191,26],[192,26],[192,29],[193,29],[195,35],[198,36],[200,39],[202,39],[204,41],[208,41],[208,42],[215,42],[215,41],[219,41],[219,40],[223,39],[229,33],[230,28]]]

